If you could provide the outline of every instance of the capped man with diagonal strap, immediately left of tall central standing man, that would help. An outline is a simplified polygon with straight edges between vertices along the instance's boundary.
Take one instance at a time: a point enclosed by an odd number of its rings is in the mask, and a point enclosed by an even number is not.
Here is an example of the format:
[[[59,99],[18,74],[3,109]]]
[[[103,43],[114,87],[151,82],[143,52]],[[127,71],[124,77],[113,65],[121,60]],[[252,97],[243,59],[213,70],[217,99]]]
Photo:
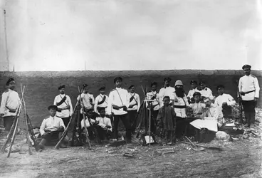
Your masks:
[[[95,98],[94,110],[99,115],[100,109],[108,108],[108,96],[105,95],[105,86],[99,88],[100,94]],[[105,112],[107,114],[107,112]]]

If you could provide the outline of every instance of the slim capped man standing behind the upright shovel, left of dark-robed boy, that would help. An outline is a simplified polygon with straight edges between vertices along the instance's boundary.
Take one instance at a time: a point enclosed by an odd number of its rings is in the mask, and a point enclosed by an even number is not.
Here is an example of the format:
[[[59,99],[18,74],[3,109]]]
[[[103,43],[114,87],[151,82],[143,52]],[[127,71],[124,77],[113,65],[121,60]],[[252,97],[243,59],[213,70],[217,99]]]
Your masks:
[[[159,111],[159,94],[157,93],[157,83],[151,83],[151,91],[147,93],[147,100],[152,101],[152,120],[151,120],[151,130],[155,133],[155,125],[157,122],[157,115]],[[147,104],[148,105],[148,104]]]

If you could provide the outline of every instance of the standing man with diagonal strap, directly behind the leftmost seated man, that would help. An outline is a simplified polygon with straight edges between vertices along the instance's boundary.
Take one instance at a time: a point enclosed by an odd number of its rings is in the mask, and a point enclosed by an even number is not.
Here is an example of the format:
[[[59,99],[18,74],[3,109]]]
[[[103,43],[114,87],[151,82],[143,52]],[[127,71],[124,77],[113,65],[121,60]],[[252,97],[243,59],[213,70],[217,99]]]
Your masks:
[[[70,116],[73,114],[73,106],[70,97],[65,94],[65,88],[65,85],[61,85],[58,87],[59,95],[56,96],[55,100],[53,101],[53,105],[56,105],[58,107],[56,116],[60,117],[67,127]]]

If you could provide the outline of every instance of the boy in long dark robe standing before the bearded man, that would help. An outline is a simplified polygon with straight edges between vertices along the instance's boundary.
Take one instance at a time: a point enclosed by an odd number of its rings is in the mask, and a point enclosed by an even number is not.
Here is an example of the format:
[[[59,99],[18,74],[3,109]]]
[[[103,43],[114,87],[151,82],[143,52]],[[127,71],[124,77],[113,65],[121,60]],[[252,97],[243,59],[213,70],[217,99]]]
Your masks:
[[[169,105],[169,96],[164,96],[164,105],[159,109],[157,115],[157,126],[162,128],[164,137],[168,140],[168,144],[172,145],[175,142],[176,130],[176,114],[174,108]]]

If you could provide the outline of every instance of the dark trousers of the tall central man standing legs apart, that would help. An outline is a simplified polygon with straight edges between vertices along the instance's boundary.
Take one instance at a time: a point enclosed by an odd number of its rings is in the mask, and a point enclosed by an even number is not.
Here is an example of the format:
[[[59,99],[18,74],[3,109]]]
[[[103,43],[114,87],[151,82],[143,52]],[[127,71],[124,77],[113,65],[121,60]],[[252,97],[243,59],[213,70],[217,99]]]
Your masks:
[[[113,121],[113,126],[114,126],[114,138],[117,138],[118,135],[118,123],[119,120],[122,120],[122,123],[125,125],[125,137],[127,140],[131,140],[131,122],[129,118],[127,117],[127,114],[125,115],[114,115],[114,121]]]

